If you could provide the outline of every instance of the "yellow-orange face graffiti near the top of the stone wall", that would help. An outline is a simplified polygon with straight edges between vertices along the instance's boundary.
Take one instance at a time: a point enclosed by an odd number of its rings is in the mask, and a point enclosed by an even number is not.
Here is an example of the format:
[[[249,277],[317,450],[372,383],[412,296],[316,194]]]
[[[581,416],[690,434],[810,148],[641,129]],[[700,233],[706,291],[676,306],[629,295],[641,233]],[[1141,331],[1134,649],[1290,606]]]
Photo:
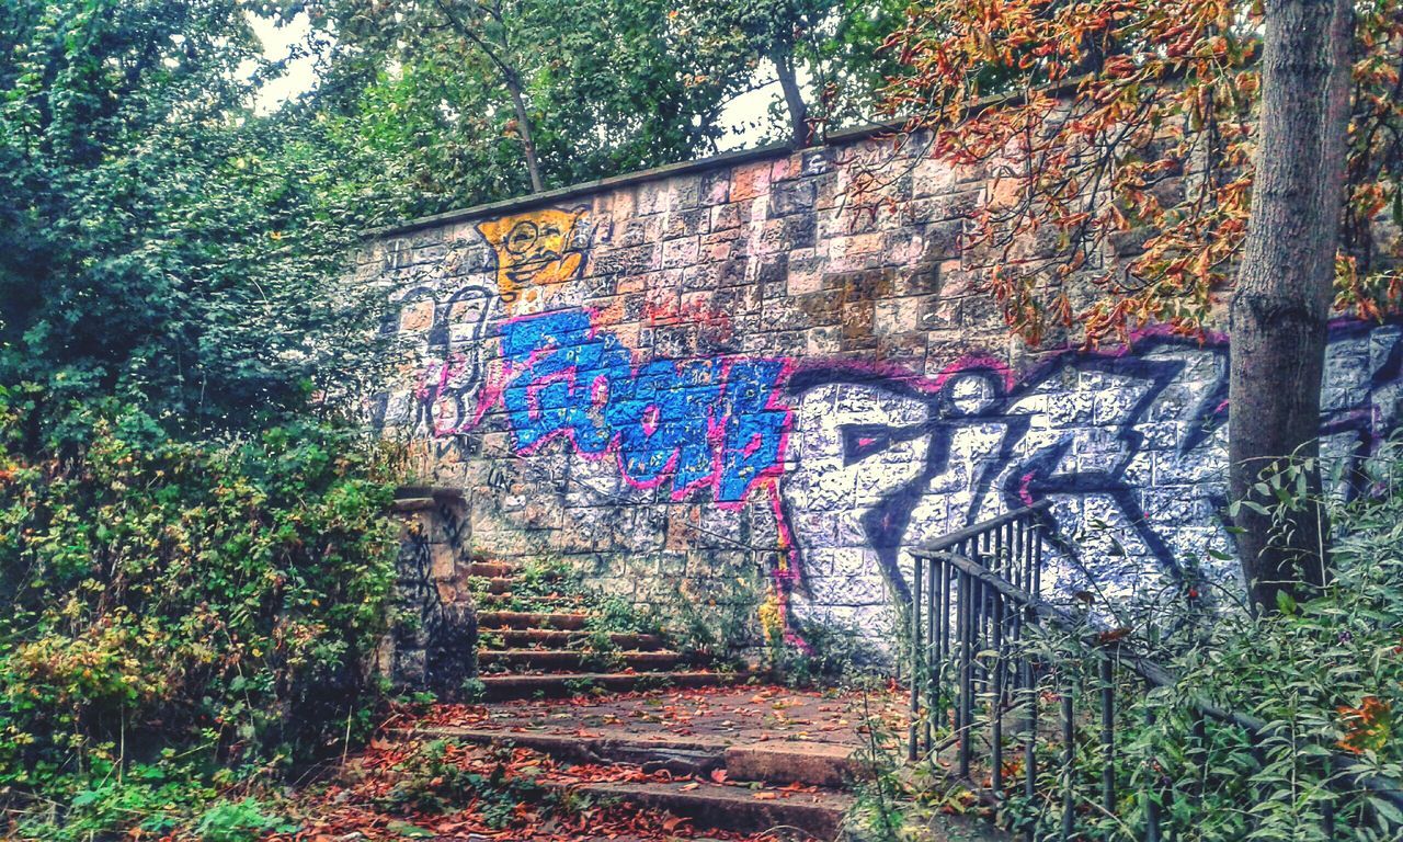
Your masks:
[[[530,210],[478,223],[497,251],[497,286],[508,312],[539,309],[546,288],[579,274],[585,253],[575,229],[584,213],[584,208]]]

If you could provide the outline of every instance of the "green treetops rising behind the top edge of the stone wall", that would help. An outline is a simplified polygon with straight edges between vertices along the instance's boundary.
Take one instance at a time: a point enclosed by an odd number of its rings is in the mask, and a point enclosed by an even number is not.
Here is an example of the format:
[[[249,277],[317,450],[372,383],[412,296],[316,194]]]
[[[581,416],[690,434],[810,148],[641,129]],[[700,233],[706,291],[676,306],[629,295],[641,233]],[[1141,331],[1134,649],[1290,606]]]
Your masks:
[[[899,20],[890,0],[257,6],[309,15],[321,81],[306,107],[382,153],[412,191],[405,216],[713,154],[735,131],[727,104],[776,73],[815,128],[863,122],[890,65],[871,48]],[[790,125],[777,107],[765,138],[791,140]]]

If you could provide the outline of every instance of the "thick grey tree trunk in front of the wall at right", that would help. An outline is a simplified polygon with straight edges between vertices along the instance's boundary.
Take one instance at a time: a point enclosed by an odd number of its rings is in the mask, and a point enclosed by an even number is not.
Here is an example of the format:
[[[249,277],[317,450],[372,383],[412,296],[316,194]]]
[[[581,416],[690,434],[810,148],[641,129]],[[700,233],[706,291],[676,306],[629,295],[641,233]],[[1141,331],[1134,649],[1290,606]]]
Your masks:
[[[1320,389],[1340,237],[1350,111],[1348,0],[1267,0],[1263,101],[1251,218],[1230,307],[1229,487],[1273,505],[1263,472],[1319,455]],[[1308,474],[1315,501],[1320,472]],[[1284,519],[1239,505],[1233,516],[1249,595],[1329,580],[1324,512],[1306,502]]]

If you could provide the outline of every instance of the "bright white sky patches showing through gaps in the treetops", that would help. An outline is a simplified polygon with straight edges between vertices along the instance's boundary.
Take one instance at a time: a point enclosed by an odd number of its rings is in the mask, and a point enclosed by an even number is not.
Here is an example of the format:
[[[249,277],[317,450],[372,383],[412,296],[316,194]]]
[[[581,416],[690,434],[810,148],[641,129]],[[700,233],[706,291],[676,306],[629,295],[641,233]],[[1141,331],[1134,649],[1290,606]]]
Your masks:
[[[250,21],[254,32],[262,41],[264,58],[271,62],[286,59],[289,51],[303,42],[310,29],[306,14],[299,14],[285,27],[278,27],[272,18],[250,15]],[[311,90],[316,84],[317,70],[313,58],[293,59],[289,62],[286,73],[262,87],[255,108],[260,114],[269,114],[286,100]],[[720,152],[755,146],[762,135],[760,125],[765,122],[770,102],[779,101],[781,95],[779,83],[772,81],[731,100],[721,112],[721,125],[728,129],[741,128],[742,132],[727,132],[717,142]]]

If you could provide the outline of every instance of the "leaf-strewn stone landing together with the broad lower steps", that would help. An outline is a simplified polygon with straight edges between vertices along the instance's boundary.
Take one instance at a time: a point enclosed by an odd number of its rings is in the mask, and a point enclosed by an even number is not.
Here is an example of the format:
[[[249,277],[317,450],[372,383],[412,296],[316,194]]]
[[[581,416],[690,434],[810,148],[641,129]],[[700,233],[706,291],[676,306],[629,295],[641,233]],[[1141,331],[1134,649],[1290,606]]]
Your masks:
[[[561,793],[678,817],[699,839],[724,831],[748,841],[854,842],[867,838],[854,806],[874,775],[870,723],[887,720],[898,734],[904,706],[901,692],[661,689],[459,706],[398,735],[549,756],[560,763],[549,777]],[[926,838],[1010,842],[972,817],[948,815],[934,817]]]

